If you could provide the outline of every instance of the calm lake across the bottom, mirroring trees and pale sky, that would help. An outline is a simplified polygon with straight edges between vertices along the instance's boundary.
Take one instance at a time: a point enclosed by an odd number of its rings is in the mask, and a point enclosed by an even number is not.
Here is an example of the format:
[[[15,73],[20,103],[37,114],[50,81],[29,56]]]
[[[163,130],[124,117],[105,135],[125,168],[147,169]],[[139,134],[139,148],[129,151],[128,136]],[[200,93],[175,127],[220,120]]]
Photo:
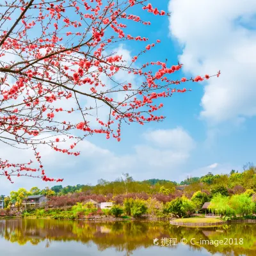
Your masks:
[[[217,244],[221,240],[226,244]],[[168,221],[0,220],[0,250],[4,256],[255,256],[256,225],[187,228]]]

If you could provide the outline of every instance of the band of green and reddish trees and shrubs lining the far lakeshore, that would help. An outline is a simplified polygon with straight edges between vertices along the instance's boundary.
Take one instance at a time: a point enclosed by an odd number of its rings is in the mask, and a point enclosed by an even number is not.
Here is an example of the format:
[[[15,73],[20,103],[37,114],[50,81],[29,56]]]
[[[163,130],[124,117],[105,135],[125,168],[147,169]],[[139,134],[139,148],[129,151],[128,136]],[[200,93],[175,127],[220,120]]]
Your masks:
[[[180,191],[179,186],[184,190]],[[256,168],[248,163],[244,171],[232,170],[228,175],[207,173],[191,177],[180,184],[170,180],[136,181],[125,173],[113,182],[99,180],[96,186],[77,185],[51,189],[20,188],[4,198],[5,209],[0,216],[19,216],[22,201],[28,195],[47,195],[48,202],[40,209],[22,211],[25,218],[189,218],[202,212],[202,205],[211,202],[207,211],[221,214],[223,220],[255,218],[256,213]],[[86,203],[114,202],[111,209],[97,209]],[[15,211],[11,211],[15,205]],[[24,210],[24,209],[23,209]]]

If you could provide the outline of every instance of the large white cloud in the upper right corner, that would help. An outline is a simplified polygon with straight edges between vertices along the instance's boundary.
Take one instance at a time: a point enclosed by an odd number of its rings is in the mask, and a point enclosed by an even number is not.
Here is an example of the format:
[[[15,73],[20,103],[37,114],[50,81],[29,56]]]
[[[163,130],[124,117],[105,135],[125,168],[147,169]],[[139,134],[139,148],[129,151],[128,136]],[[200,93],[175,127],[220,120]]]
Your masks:
[[[200,116],[211,124],[256,115],[256,1],[171,0],[170,32],[182,46],[180,62],[207,81]]]

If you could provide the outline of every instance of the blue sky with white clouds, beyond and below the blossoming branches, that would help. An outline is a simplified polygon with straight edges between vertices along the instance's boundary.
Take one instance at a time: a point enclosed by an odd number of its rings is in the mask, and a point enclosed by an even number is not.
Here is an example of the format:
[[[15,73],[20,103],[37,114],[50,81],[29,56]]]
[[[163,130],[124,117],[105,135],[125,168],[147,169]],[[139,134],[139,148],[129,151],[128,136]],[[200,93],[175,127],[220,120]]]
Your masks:
[[[139,58],[184,65],[173,80],[186,76],[216,74],[204,83],[188,83],[192,92],[177,93],[163,101],[162,123],[123,125],[122,140],[93,136],[81,145],[79,157],[45,153],[45,170],[51,177],[64,178],[63,186],[95,184],[129,172],[134,179],[183,180],[188,175],[229,173],[255,163],[256,133],[256,31],[254,0],[150,1],[168,17],[136,10],[152,25],[130,27],[129,33],[161,39],[150,53]],[[126,56],[137,55],[145,42],[124,42]],[[2,148],[3,149],[3,148]],[[3,150],[1,150],[3,152]],[[4,148],[4,154],[20,154]],[[24,153],[26,154],[26,152]],[[22,158],[22,154],[19,156]],[[17,179],[9,184],[0,177],[3,193],[19,187],[44,188],[55,183]],[[1,192],[2,193],[2,192]]]

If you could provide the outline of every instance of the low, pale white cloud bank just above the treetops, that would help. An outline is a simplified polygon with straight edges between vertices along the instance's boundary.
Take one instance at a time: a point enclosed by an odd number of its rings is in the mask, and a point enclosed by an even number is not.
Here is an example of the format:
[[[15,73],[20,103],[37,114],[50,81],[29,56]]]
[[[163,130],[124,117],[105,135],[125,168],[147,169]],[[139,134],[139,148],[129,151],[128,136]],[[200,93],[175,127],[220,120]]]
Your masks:
[[[163,141],[167,142],[164,143]],[[68,146],[67,141],[60,143]],[[40,148],[45,171],[50,177],[64,178],[63,186],[70,184],[95,184],[98,179],[114,180],[123,172],[129,172],[134,179],[166,178],[166,173],[173,179],[175,170],[182,168],[195,147],[195,142],[181,127],[168,130],[148,131],[143,134],[143,141],[131,148],[127,154],[115,153],[99,147],[90,141],[81,141],[76,150],[80,156],[67,156],[54,152],[49,148]],[[17,161],[33,157],[29,150],[13,149],[6,145],[3,148],[4,157]],[[11,153],[12,152],[12,153]],[[10,157],[13,156],[13,157]],[[13,178],[14,184],[9,184],[5,177],[0,177],[3,193],[23,186],[27,189],[32,186],[53,186],[54,183],[45,183],[37,179],[23,177]]]

